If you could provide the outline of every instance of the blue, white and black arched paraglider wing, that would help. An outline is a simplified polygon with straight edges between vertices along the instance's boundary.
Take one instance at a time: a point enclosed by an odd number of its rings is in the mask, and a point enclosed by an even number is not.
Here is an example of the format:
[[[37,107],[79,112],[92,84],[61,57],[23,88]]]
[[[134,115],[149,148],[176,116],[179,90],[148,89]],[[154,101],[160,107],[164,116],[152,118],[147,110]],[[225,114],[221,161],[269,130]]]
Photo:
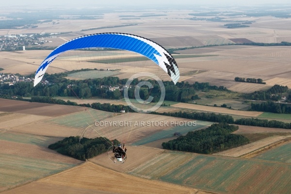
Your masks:
[[[126,33],[97,33],[72,39],[57,49],[54,49],[38,67],[33,85],[37,85],[42,80],[49,64],[61,53],[67,50],[97,47],[122,49],[140,53],[167,72],[175,84],[179,80],[179,69],[175,59],[166,49],[157,43],[140,36]]]

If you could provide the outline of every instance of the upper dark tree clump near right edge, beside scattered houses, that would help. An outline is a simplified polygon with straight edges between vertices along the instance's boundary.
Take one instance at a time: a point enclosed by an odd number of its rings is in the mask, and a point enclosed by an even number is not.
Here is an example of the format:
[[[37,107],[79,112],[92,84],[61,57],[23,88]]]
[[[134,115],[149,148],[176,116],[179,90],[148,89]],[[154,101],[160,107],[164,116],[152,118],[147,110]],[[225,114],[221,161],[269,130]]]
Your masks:
[[[244,97],[246,99],[251,99],[251,100],[275,100],[278,101],[281,99],[282,93],[288,92],[288,87],[287,86],[282,86],[282,85],[274,85],[270,89],[266,91],[255,91],[251,94],[245,94]]]

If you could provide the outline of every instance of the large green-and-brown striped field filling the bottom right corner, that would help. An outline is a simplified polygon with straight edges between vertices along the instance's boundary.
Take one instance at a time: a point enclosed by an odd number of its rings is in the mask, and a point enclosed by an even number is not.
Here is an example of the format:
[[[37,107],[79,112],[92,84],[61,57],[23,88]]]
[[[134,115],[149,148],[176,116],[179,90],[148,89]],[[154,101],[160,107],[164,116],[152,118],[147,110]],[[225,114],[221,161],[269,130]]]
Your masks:
[[[222,194],[287,194],[291,165],[165,151],[130,175]]]

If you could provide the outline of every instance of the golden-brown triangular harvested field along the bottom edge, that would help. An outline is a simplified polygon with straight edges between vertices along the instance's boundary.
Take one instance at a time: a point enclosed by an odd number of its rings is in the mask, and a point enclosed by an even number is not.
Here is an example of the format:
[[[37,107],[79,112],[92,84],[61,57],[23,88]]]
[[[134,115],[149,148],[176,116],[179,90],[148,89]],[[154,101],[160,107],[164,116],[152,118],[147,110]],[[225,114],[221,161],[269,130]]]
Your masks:
[[[65,189],[65,190],[64,190]],[[86,162],[65,172],[42,178],[3,194],[194,194],[196,189],[137,178]],[[202,194],[202,193],[201,193]]]

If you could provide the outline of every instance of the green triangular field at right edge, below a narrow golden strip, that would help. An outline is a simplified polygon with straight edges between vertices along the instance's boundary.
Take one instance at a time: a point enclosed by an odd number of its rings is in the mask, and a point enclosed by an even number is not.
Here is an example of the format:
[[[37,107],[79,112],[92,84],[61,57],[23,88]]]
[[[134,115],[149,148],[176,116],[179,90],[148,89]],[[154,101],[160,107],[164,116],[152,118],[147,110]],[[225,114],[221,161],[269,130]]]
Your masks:
[[[291,163],[291,143],[285,144],[259,154],[254,159]]]

